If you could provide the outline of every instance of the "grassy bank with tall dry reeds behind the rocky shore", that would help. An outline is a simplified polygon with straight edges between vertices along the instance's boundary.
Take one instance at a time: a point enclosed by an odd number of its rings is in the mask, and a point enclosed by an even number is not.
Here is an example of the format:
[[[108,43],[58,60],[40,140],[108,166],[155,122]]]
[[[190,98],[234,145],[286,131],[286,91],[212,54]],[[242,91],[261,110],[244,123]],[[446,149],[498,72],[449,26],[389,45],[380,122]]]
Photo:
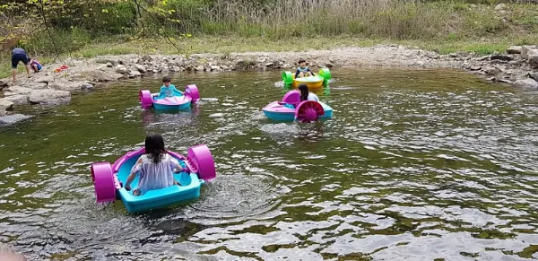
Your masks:
[[[50,61],[56,52],[61,57],[227,54],[367,47],[380,43],[416,46],[440,54],[490,54],[502,52],[509,45],[538,42],[538,5],[506,4],[496,9],[499,1],[493,0],[167,0],[153,1],[157,5],[144,6],[149,13],[135,17],[126,16],[126,10],[133,11],[130,2],[105,2],[119,5],[102,5],[101,13],[114,14],[119,10],[124,14],[82,15],[99,19],[68,28],[60,26],[64,23],[55,23],[52,38],[48,31],[37,30],[19,40],[19,45],[30,50],[32,56]],[[57,15],[52,17],[58,19]],[[51,20],[50,23],[55,22]],[[6,62],[0,65],[0,77],[9,74],[9,48],[4,46],[1,58]]]

